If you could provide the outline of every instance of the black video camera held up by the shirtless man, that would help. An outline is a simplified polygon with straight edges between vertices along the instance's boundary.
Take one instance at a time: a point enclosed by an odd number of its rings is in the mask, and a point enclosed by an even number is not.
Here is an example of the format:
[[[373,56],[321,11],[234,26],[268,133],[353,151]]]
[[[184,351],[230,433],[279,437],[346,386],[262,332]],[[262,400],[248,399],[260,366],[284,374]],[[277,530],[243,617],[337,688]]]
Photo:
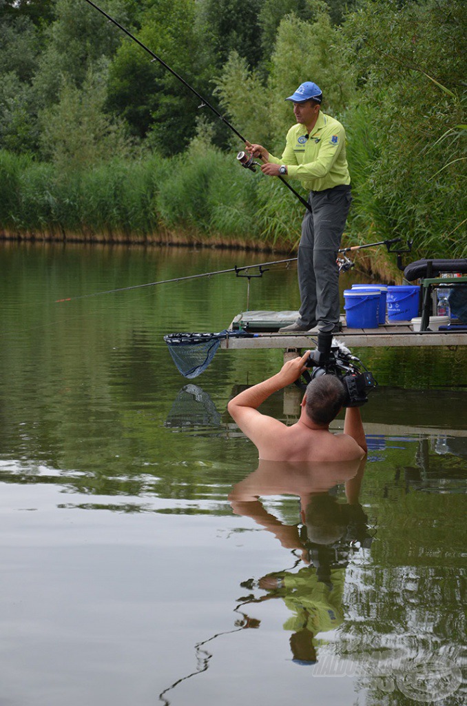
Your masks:
[[[303,373],[307,384],[321,375],[335,375],[346,390],[344,407],[361,407],[368,402],[367,393],[377,388],[377,382],[363,365],[332,333],[318,333],[317,349],[310,353]]]

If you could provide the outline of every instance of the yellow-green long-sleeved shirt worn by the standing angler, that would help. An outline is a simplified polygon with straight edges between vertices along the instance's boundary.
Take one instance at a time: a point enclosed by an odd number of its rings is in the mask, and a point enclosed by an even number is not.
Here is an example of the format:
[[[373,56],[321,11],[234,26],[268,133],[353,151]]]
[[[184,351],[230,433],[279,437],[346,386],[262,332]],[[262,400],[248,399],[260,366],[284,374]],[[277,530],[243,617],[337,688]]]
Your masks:
[[[269,155],[269,162],[285,164],[291,179],[300,179],[307,191],[333,189],[350,184],[346,159],[346,133],[338,120],[322,112],[308,138],[305,125],[290,128],[282,157]]]

